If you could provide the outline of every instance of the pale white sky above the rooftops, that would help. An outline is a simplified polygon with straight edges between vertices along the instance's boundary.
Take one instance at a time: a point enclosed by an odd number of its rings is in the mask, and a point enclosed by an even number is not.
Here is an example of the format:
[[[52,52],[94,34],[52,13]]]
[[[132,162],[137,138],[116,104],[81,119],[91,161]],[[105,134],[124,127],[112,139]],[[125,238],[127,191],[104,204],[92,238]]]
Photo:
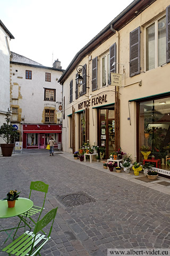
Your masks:
[[[66,69],[88,42],[133,0],[0,0],[10,49],[44,66]]]

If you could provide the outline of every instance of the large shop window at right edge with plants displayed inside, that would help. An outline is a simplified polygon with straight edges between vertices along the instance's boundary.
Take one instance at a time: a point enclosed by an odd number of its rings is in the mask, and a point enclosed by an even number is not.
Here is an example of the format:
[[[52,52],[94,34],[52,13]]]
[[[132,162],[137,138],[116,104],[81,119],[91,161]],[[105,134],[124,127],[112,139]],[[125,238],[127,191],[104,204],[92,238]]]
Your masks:
[[[160,159],[161,169],[169,170],[170,150],[170,98],[154,99],[139,103],[139,151],[149,147],[148,159]]]

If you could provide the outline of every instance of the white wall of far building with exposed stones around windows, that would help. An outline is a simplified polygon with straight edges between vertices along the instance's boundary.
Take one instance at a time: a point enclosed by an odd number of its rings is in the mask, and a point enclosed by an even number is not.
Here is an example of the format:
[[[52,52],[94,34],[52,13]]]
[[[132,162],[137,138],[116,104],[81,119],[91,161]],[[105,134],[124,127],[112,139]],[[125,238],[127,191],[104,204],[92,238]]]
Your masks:
[[[32,71],[32,79],[25,79],[25,70]],[[61,113],[58,106],[62,102],[62,85],[57,81],[62,71],[11,63],[11,108],[18,108],[18,122],[43,123],[44,109],[55,108],[55,114]],[[45,73],[51,73],[51,82],[45,81]],[[56,89],[56,101],[45,101],[45,88]],[[56,115],[57,116],[57,115]],[[13,121],[15,115],[13,115]],[[15,118],[16,119],[16,118]],[[58,122],[56,117],[55,123]],[[62,121],[62,118],[59,118]],[[60,121],[58,123],[60,123]]]

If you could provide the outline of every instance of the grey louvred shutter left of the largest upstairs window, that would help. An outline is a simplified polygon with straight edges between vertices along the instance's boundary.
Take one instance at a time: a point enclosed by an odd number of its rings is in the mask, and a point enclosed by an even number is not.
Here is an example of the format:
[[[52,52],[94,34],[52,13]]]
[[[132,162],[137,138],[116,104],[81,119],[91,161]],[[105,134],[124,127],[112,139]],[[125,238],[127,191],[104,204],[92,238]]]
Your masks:
[[[140,27],[130,33],[130,76],[140,74]]]

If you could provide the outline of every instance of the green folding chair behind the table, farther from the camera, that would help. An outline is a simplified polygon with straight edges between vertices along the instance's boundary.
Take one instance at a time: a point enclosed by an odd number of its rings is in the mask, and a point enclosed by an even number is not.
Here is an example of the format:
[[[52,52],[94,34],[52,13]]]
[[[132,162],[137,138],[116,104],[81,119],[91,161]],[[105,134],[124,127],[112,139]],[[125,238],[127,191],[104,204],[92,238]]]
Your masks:
[[[28,211],[28,212],[25,212],[21,215],[19,215],[18,217],[20,218],[20,222],[19,222],[19,225],[18,227],[20,226],[20,223],[21,221],[23,221],[25,223],[25,225],[27,225],[30,229],[31,229],[31,226],[30,226],[30,222],[32,221],[33,222],[33,225],[35,226],[36,225],[36,222],[31,218],[33,215],[39,213],[39,217],[38,217],[38,220],[39,221],[39,218],[41,216],[41,213],[44,209],[44,204],[45,204],[45,199],[46,199],[46,194],[48,192],[48,184],[44,183],[43,181],[31,181],[31,184],[30,184],[30,195],[29,195],[29,199],[31,198],[31,192],[32,190],[36,190],[36,191],[41,191],[44,193],[44,201],[43,201],[43,206],[40,207],[40,206],[36,206],[36,205],[33,205],[32,208]],[[27,220],[27,218],[29,218],[29,220]],[[16,229],[17,231],[18,229]],[[16,231],[15,231],[15,234],[13,236],[13,238],[15,237],[16,235]]]

